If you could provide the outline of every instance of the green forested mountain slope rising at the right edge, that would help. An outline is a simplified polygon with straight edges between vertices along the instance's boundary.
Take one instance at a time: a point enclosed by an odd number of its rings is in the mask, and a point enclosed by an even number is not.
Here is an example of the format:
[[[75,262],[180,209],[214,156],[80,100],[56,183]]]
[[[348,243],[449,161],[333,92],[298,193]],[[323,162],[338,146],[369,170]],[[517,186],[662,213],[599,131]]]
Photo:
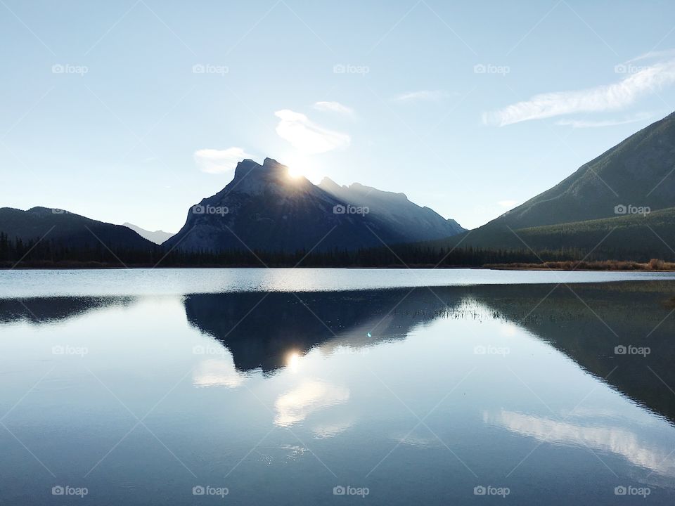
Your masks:
[[[656,224],[662,237],[675,235],[675,209],[668,210],[673,207],[675,113],[582,165],[553,188],[452,242],[524,249],[522,239],[533,249],[589,250],[612,231],[609,243],[603,242],[605,250],[610,244],[624,254],[648,254],[653,247],[666,249],[649,230],[650,223]],[[643,238],[646,242],[641,242]]]

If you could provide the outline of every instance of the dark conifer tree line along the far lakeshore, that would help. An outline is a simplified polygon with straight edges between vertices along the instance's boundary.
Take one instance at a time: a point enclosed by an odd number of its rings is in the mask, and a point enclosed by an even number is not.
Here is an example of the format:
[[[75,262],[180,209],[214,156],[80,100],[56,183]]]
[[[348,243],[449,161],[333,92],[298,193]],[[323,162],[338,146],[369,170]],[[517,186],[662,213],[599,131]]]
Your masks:
[[[55,240],[8,238],[0,232],[0,263],[4,267],[68,267],[68,266],[158,266],[158,267],[480,267],[486,264],[536,264],[540,261],[574,261],[584,258],[580,249],[558,249],[532,252],[522,249],[430,246],[424,244],[394,245],[330,251],[298,250],[269,252],[237,249],[224,252],[200,250],[186,252],[150,249],[105,247],[102,244],[72,247]]]

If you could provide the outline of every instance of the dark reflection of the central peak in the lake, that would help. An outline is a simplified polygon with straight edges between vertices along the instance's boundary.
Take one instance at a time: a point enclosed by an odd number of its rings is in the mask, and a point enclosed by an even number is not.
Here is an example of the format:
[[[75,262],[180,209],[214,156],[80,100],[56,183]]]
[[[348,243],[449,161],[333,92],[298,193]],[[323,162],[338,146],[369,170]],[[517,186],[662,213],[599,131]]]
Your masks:
[[[288,365],[289,353],[304,354],[320,344],[331,353],[403,339],[460,300],[461,294],[439,300],[420,288],[195,294],[184,304],[188,322],[222,342],[237,370],[269,373]]]

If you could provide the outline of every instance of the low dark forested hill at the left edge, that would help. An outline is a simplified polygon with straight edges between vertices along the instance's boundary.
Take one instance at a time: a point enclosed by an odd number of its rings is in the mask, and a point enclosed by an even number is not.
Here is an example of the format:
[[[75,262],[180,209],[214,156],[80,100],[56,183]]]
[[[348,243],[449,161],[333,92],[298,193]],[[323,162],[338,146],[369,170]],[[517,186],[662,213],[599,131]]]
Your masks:
[[[6,233],[10,239],[20,238],[23,242],[44,239],[73,248],[105,245],[111,249],[148,250],[155,247],[125,226],[47,207],[32,207],[27,211],[0,208],[0,232]]]

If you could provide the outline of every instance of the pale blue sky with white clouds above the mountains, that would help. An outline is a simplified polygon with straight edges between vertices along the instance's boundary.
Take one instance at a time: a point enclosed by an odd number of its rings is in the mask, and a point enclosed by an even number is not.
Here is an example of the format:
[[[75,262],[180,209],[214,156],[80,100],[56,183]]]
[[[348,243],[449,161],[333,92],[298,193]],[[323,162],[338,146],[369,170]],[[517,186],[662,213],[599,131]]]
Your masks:
[[[0,206],[176,232],[238,160],[475,228],[675,110],[672,1],[0,0]]]

